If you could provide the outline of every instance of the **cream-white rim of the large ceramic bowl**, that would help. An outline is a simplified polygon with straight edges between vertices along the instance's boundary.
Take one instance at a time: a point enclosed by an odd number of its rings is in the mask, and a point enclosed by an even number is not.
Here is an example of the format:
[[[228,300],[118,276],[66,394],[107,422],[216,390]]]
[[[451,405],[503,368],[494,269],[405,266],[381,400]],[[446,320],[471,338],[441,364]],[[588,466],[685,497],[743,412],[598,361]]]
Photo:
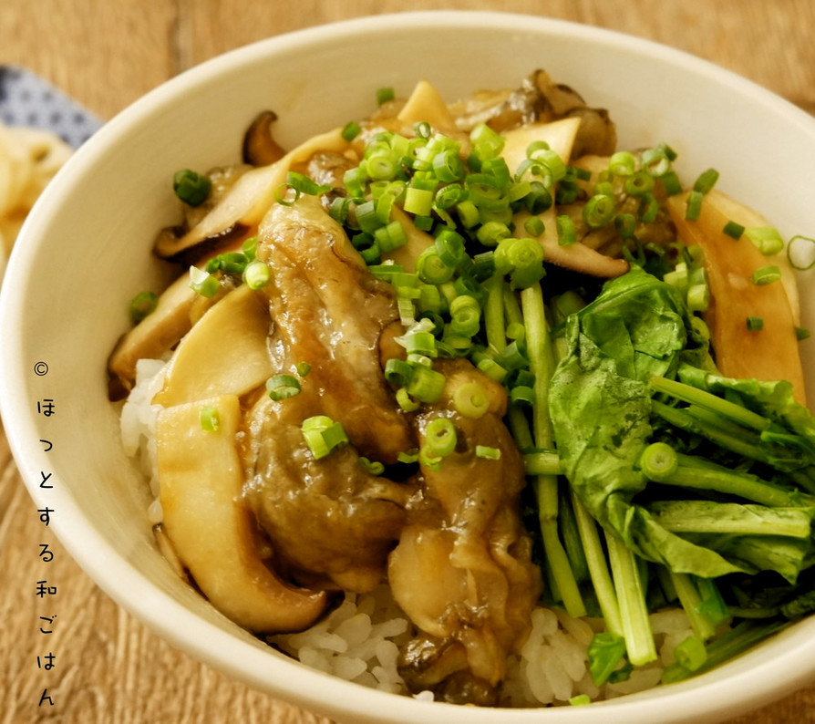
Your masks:
[[[127,109],[123,109],[67,161],[26,220],[19,237],[22,243],[16,245],[9,260],[5,283],[0,290],[0,338],[8,341],[0,353],[4,369],[4,374],[0,376],[0,416],[6,422],[5,432],[9,445],[35,502],[45,502],[38,488],[37,477],[37,471],[41,469],[39,463],[43,458],[42,451],[36,450],[29,442],[37,439],[35,426],[28,416],[27,399],[21,393],[22,387],[15,385],[15,379],[22,379],[26,374],[20,349],[20,340],[26,331],[21,328],[20,319],[14,313],[15,300],[20,298],[24,291],[26,280],[34,274],[37,234],[48,222],[49,209],[58,210],[70,195],[72,179],[92,168],[104,157],[121,131],[138,126],[142,119],[149,117],[156,109],[172,102],[172,98],[179,90],[190,92],[191,89],[209,82],[213,70],[217,76],[228,74],[233,68],[253,62],[259,55],[269,56],[296,51],[314,43],[335,39],[337,34],[361,36],[373,30],[381,30],[383,27],[421,28],[428,24],[459,28],[523,29],[525,32],[542,35],[566,34],[599,43],[604,47],[624,46],[628,50],[656,56],[692,73],[702,74],[723,83],[742,95],[755,98],[762,105],[778,109],[788,116],[789,122],[794,122],[812,137],[815,147],[815,120],[809,114],[788,100],[726,68],[643,37],[521,13],[429,10],[357,17],[267,37],[205,60],[153,88]],[[29,238],[31,243],[27,243]],[[39,462],[32,465],[32,461]],[[281,659],[278,662],[269,656],[267,650],[251,644],[242,644],[237,652],[239,656],[233,657],[232,662],[224,662],[216,656],[216,652],[235,646],[236,639],[232,634],[198,616],[190,616],[185,606],[169,594],[157,590],[131,562],[123,560],[94,529],[92,522],[70,496],[60,495],[55,498],[61,506],[61,513],[58,519],[55,519],[52,530],[77,564],[108,596],[170,645],[181,648],[231,677],[237,677],[253,688],[287,698],[298,706],[341,719],[350,716],[360,721],[408,722],[421,718],[428,721],[443,719],[451,724],[457,722],[463,724],[465,721],[476,723],[483,721],[486,724],[499,716],[493,709],[462,708],[395,697],[374,689],[361,688],[294,661]],[[109,576],[111,568],[117,570],[115,580]],[[185,621],[183,629],[177,629],[172,622],[179,617],[192,620]],[[740,711],[751,708],[754,702],[767,703],[771,698],[779,698],[799,688],[815,675],[815,657],[810,657],[809,667],[802,667],[806,661],[804,654],[811,646],[804,642],[793,645],[791,639],[789,644],[789,649],[783,655],[774,658],[771,664],[763,662],[748,672],[740,672],[738,676],[727,679],[728,690],[738,692],[741,696],[738,706],[734,706],[733,701],[727,697],[724,697],[724,701],[719,700],[711,705],[709,699],[712,692],[708,692],[708,689],[719,688],[721,682],[713,680],[708,683],[707,678],[695,679],[685,684],[673,685],[669,689],[663,688],[654,696],[632,695],[614,701],[598,702],[593,704],[591,710],[596,708],[600,713],[591,720],[603,717],[609,721],[645,724],[655,720],[666,721],[668,712],[673,711],[680,711],[682,720],[711,715],[735,716]],[[772,676],[769,676],[770,671]],[[780,687],[777,683],[779,672],[785,677],[785,683]],[[270,686],[271,677],[276,678],[273,686]],[[699,681],[702,683],[698,684]],[[716,697],[718,696],[717,694]],[[366,706],[363,708],[354,703],[359,701],[367,702]],[[370,711],[387,714],[377,713],[372,716],[366,713]],[[582,721],[588,713],[585,708],[546,708],[545,711],[544,716],[549,718],[550,724]],[[540,708],[500,709],[501,718],[509,718],[518,724],[537,721],[540,716],[542,716]]]

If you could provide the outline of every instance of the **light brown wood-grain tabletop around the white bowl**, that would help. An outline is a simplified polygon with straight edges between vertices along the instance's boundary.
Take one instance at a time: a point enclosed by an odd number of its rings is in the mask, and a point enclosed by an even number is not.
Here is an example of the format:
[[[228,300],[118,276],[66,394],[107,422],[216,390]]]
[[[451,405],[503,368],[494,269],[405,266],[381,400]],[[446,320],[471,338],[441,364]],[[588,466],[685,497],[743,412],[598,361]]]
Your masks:
[[[254,40],[348,17],[438,7],[506,9],[652,38],[815,113],[812,0],[0,0],[0,64],[33,70],[108,119],[181,70]],[[326,724],[153,636],[49,537],[5,436],[0,470],[0,724]],[[54,553],[47,577],[60,591],[51,624],[33,613],[41,543]],[[40,625],[52,627],[52,635],[40,633]],[[49,653],[54,666],[46,669]],[[53,706],[39,706],[44,688]],[[815,722],[815,686],[728,724],[759,722]]]

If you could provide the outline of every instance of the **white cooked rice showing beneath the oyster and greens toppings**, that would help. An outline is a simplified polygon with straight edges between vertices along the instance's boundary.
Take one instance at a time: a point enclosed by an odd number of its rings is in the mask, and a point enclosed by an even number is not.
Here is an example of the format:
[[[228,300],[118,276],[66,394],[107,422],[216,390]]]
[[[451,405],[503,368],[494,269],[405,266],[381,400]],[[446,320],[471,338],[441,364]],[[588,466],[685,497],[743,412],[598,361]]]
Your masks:
[[[153,502],[150,522],[161,521],[156,465],[155,425],[160,410],[151,404],[164,383],[167,363],[142,359],[136,384],[120,417],[122,444],[150,481]],[[658,658],[637,667],[627,680],[594,685],[588,649],[601,619],[573,618],[559,609],[538,606],[531,613],[531,631],[518,652],[507,660],[501,705],[513,708],[562,706],[578,695],[593,700],[615,698],[659,684],[664,668],[674,661],[674,649],[693,631],[681,608],[650,615]],[[268,636],[267,642],[305,666],[365,687],[408,695],[399,676],[399,652],[418,634],[393,599],[387,584],[366,594],[346,593],[324,618],[303,632]],[[414,694],[432,699],[429,691]]]

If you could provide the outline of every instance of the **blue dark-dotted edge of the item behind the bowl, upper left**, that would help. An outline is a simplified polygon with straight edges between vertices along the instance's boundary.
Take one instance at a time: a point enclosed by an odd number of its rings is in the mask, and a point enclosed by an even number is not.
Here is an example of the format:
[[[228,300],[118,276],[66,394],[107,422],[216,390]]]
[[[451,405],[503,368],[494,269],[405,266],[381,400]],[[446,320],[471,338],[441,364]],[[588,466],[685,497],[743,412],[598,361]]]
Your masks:
[[[78,148],[102,121],[34,73],[0,66],[0,122],[49,130]]]

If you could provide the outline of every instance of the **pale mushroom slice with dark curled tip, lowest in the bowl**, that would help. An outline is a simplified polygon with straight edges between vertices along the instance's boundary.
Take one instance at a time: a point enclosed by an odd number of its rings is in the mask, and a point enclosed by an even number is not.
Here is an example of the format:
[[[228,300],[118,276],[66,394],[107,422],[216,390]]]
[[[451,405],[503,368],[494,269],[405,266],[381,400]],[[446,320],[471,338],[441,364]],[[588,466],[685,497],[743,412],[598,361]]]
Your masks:
[[[218,429],[201,426],[217,410]],[[323,613],[325,591],[285,583],[257,553],[242,502],[236,446],[241,407],[234,395],[162,409],[156,423],[163,530],[210,603],[256,632],[299,631]]]

